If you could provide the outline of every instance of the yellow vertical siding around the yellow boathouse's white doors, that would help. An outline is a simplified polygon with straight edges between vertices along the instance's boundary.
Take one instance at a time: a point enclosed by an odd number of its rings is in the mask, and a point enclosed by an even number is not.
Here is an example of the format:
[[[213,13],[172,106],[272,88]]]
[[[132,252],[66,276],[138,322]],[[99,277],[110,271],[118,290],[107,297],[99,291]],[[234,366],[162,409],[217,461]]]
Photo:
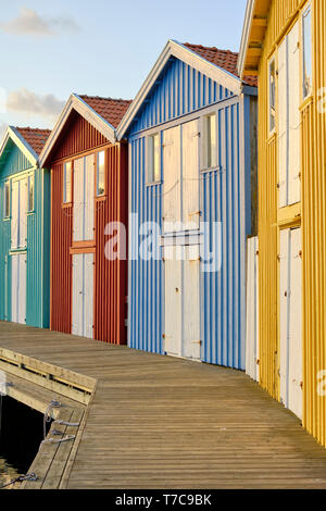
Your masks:
[[[274,1],[259,72],[259,237],[261,384],[279,399],[277,144],[267,133],[267,59],[287,28],[310,2]],[[313,96],[301,111],[303,245],[303,425],[326,445],[326,398],[318,395],[318,373],[326,369],[326,116],[318,112],[318,90],[326,75],[326,7],[313,0]]]

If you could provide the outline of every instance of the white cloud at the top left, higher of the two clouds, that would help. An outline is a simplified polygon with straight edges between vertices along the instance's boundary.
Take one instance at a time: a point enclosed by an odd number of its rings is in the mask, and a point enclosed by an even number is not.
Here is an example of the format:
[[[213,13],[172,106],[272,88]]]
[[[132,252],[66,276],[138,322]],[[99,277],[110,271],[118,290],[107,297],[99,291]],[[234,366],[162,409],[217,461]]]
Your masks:
[[[78,32],[79,27],[71,17],[41,17],[33,9],[22,7],[17,17],[0,23],[0,29],[16,35],[57,36],[63,32]]]

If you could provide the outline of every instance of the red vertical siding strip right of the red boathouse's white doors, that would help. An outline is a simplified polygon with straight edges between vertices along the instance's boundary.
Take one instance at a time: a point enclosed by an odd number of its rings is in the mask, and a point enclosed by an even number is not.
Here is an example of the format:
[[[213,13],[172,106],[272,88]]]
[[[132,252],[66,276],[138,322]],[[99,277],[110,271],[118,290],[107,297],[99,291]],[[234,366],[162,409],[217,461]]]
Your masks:
[[[104,228],[109,222],[122,222],[127,227],[127,172],[126,145],[106,149],[108,198],[96,202],[95,338],[116,345],[127,341],[127,261],[105,259],[108,237],[104,236]]]

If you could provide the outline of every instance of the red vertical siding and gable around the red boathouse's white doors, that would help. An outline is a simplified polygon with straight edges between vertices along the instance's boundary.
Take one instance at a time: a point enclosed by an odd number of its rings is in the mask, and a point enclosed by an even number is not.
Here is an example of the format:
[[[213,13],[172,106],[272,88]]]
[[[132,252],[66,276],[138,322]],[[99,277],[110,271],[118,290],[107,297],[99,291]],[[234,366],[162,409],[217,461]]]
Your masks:
[[[63,163],[58,159],[83,157],[106,145],[105,200],[95,199],[95,311],[93,337],[112,344],[127,342],[127,261],[105,258],[104,235],[109,222],[122,222],[127,232],[127,145],[110,145],[89,123],[73,115],[62,132],[51,160],[51,329],[71,333],[73,208],[62,208]],[[87,244],[86,244],[87,245]]]

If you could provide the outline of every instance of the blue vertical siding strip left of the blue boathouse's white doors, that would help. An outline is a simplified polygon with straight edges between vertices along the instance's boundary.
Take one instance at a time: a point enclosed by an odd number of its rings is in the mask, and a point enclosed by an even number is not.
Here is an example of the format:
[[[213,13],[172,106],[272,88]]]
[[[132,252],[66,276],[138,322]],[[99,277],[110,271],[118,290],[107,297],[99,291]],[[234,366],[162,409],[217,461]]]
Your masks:
[[[138,214],[137,233],[143,222],[156,222],[162,228],[162,185],[146,186],[145,138],[130,140],[131,174],[129,210]],[[129,245],[139,247],[141,237],[130,225]],[[162,353],[163,342],[163,262],[129,260],[128,344],[131,348]]]

